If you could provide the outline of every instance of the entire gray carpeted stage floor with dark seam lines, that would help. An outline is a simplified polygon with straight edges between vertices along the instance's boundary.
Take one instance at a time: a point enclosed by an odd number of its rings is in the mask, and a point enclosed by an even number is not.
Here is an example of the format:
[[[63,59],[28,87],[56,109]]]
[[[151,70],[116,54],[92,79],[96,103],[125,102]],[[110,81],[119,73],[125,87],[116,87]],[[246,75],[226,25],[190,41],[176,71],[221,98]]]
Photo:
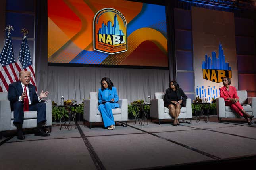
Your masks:
[[[79,122],[72,130],[52,127],[50,137],[31,132],[20,141],[17,136],[9,139],[7,134],[0,140],[0,169],[168,169],[214,166],[214,162],[237,162],[248,157],[255,160],[255,125],[192,120],[192,124],[173,126],[171,122],[158,125],[155,121],[144,126],[117,124],[115,130],[108,130],[101,125],[89,129]]]

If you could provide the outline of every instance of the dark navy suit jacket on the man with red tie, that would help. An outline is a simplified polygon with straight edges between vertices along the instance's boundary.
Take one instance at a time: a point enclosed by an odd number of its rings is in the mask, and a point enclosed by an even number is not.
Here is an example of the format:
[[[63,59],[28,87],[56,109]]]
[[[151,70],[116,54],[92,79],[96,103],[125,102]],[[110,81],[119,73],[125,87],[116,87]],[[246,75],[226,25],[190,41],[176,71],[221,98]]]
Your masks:
[[[38,103],[39,101],[36,93],[36,87],[33,86],[32,84],[29,84],[28,88],[29,88],[29,97],[30,97],[31,104]],[[15,103],[16,101],[19,101],[19,96],[21,96],[22,93],[23,93],[23,89],[20,81],[9,84],[8,100],[10,100],[12,109],[13,109],[13,103]]]

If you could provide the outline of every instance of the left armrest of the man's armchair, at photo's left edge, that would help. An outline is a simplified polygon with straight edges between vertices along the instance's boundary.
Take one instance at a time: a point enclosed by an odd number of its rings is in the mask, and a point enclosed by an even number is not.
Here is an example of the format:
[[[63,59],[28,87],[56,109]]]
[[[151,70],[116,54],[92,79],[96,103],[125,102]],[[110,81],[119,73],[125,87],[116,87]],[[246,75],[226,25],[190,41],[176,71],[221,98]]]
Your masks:
[[[10,130],[11,105],[9,100],[0,100],[0,132]]]

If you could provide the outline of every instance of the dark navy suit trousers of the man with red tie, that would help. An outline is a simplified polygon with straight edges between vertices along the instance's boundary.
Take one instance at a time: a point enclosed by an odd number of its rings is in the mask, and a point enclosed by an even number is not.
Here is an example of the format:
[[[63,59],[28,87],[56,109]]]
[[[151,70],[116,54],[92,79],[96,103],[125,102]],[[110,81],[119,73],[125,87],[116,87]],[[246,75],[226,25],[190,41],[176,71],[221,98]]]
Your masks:
[[[13,115],[14,121],[13,124],[19,122],[23,123],[24,119],[24,105],[21,101],[16,101],[13,103]],[[29,105],[29,111],[37,111],[37,123],[46,122],[46,104],[44,102],[35,103],[33,105]]]

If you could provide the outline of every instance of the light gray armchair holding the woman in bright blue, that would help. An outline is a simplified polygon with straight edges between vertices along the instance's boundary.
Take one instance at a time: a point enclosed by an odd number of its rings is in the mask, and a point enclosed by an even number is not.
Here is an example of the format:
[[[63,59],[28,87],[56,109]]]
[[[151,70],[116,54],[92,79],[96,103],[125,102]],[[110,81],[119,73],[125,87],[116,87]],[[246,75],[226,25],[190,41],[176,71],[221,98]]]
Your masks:
[[[90,123],[90,129],[93,122],[102,122],[100,111],[98,110],[98,92],[90,92],[90,99],[84,100],[84,120]],[[127,125],[128,120],[128,101],[127,99],[119,99],[120,108],[112,109],[114,121],[125,121]]]

